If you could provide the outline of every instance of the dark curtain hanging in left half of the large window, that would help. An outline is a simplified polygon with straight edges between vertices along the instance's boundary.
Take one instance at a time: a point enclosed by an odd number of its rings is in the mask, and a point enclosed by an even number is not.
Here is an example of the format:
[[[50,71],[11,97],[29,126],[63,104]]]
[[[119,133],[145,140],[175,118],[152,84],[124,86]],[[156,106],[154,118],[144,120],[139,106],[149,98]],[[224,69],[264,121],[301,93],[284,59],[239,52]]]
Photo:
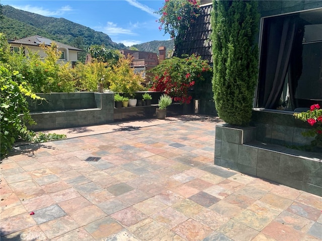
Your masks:
[[[278,105],[297,32],[297,19],[297,16],[287,16],[264,23],[258,107],[273,109]]]

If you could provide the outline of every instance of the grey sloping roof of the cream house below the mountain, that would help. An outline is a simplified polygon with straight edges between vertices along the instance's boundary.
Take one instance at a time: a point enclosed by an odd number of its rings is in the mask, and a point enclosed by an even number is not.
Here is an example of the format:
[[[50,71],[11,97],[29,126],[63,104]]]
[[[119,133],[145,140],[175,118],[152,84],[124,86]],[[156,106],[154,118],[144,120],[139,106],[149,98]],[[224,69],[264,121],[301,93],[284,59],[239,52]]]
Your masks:
[[[47,39],[38,35],[10,41],[11,44],[23,44],[23,45],[30,45],[30,46],[39,46],[42,43],[45,43],[45,45],[50,46],[52,42],[55,42],[59,48],[66,48],[66,49],[75,50],[75,51],[83,51],[82,49],[78,49],[67,44],[62,44],[57,41],[53,41],[51,39]]]

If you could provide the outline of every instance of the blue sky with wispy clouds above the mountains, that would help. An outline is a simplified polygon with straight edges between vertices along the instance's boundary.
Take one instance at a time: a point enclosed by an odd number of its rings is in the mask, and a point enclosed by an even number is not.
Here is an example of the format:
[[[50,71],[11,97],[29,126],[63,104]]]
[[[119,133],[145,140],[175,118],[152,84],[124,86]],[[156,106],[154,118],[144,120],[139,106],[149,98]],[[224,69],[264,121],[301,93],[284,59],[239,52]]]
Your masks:
[[[64,18],[110,36],[113,42],[126,46],[153,40],[169,40],[155,22],[155,11],[163,7],[164,0],[98,0],[98,1],[16,1],[2,0],[2,5],[40,14]]]

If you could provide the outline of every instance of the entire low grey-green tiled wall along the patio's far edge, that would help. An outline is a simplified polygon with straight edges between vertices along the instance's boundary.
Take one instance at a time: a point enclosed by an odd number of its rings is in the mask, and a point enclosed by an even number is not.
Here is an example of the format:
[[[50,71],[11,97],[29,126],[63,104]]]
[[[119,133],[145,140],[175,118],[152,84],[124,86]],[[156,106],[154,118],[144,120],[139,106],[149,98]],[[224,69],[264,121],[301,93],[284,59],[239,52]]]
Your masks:
[[[141,99],[145,92],[137,92]],[[155,117],[161,92],[148,92],[151,105],[115,108],[114,92],[38,93],[45,100],[28,99],[30,114],[37,125],[29,130],[46,131],[72,127],[103,125]],[[167,108],[167,116],[193,113],[193,103],[174,103]]]

